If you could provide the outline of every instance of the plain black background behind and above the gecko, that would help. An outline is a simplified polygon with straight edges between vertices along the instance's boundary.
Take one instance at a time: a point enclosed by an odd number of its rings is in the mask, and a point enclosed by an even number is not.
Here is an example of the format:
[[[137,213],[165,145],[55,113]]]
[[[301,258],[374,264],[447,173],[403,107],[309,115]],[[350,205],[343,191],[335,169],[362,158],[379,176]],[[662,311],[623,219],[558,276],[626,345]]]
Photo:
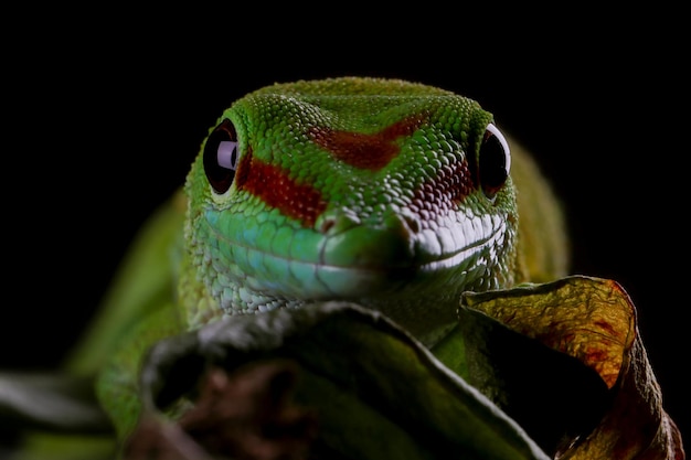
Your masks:
[[[59,363],[127,242],[234,99],[275,81],[401,77],[477,99],[539,158],[567,211],[572,271],[629,292],[685,437],[689,104],[678,13],[330,8],[17,18],[24,25],[3,44],[0,366]]]

